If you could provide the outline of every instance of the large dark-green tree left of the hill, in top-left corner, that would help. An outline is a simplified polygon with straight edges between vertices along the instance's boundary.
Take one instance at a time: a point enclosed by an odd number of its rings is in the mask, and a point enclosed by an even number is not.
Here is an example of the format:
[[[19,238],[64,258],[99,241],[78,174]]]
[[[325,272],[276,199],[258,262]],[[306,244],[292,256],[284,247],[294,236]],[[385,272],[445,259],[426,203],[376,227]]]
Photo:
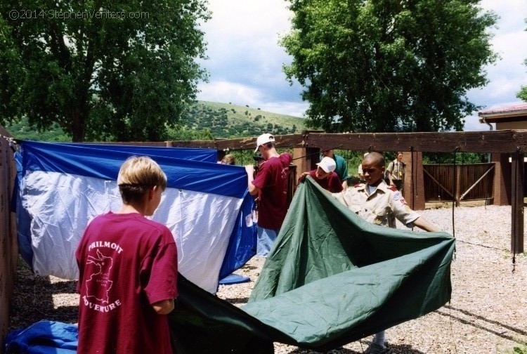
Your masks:
[[[207,79],[208,19],[204,0],[1,1],[0,122],[163,140]]]

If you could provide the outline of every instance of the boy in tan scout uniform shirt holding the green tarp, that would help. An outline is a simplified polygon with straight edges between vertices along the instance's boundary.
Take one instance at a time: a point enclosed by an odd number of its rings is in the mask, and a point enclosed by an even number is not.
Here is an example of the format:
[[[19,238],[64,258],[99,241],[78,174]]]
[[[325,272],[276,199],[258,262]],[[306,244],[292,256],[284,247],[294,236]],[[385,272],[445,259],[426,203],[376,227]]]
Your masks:
[[[408,227],[413,225],[426,231],[438,231],[406,204],[403,195],[395,187],[386,185],[384,175],[384,157],[379,152],[370,152],[363,159],[363,174],[366,183],[359,183],[344,192],[332,196],[348,209],[369,223],[395,228],[395,219]],[[412,225],[413,224],[413,225]],[[386,353],[384,331],[375,334],[366,353]]]

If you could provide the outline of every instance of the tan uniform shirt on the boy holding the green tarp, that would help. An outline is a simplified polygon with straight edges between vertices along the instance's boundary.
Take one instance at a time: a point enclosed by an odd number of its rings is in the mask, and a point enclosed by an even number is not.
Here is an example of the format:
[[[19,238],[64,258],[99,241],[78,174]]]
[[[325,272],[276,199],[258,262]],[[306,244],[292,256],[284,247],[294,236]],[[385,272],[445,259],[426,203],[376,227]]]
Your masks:
[[[368,223],[396,228],[397,218],[408,228],[412,228],[412,222],[419,218],[419,214],[406,204],[401,192],[392,190],[384,181],[377,185],[371,195],[367,185],[360,183],[344,192],[333,193],[332,196]]]

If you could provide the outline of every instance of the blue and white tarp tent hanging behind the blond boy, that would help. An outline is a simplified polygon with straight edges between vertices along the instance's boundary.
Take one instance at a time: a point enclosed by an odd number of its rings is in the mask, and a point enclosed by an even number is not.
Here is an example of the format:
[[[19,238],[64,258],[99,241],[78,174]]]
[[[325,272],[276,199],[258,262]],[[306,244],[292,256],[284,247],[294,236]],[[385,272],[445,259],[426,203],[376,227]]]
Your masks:
[[[162,166],[168,185],[152,218],[172,231],[180,272],[216,291],[221,277],[254,255],[256,229],[245,169],[216,164],[211,149],[22,142],[15,157],[20,254],[39,275],[76,279],[74,250],[94,216],[120,207],[117,173],[131,155]]]

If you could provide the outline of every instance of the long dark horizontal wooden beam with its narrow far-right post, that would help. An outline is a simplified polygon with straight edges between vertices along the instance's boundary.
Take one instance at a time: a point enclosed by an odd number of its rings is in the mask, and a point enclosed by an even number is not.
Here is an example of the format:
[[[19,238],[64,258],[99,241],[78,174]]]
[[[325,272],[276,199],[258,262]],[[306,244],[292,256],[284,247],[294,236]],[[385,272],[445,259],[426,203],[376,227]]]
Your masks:
[[[441,133],[323,133],[305,131],[301,134],[275,136],[277,147],[289,147],[302,168],[312,166],[313,151],[330,148],[356,151],[417,152],[420,169],[411,168],[411,175],[422,176],[422,152],[483,152],[500,154],[500,161],[513,156],[510,184],[512,188],[512,247],[514,253],[523,252],[523,155],[527,153],[527,130],[462,131]],[[254,149],[256,137],[214,141],[171,141],[171,147],[205,147],[219,151]],[[412,155],[413,158],[413,155]],[[502,166],[495,171],[503,171]],[[422,181],[422,177],[421,177]],[[422,182],[421,182],[422,183]],[[497,185],[497,184],[495,184]],[[419,188],[410,188],[408,201],[421,195]],[[422,190],[422,189],[421,189]],[[420,200],[424,207],[424,200]],[[415,207],[415,205],[411,205]]]

